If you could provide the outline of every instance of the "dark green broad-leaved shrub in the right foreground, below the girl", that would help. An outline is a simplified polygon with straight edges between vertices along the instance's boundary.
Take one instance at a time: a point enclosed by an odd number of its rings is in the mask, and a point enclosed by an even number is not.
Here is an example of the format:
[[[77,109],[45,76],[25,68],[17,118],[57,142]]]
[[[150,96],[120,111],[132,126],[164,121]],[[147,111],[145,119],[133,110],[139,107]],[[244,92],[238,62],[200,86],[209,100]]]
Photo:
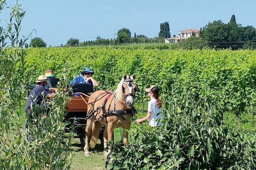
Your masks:
[[[133,126],[130,144],[112,144],[113,160],[106,166],[115,170],[255,169],[255,131],[230,130],[221,124],[222,108],[216,101],[203,94],[200,100],[166,102],[161,127]]]

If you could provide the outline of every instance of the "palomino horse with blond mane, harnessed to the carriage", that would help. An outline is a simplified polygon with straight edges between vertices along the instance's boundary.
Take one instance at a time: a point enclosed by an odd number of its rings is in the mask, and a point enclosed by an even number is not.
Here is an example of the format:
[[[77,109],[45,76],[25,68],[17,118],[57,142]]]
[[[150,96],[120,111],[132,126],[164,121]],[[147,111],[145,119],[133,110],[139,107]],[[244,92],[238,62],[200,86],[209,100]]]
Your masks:
[[[99,90],[91,94],[88,100],[88,125],[85,129],[85,156],[90,156],[89,137],[91,136],[90,147],[94,148],[98,141],[101,124],[105,125],[104,156],[111,152],[111,147],[107,148],[107,141],[113,140],[114,128],[130,128],[135,111],[134,95],[138,89],[134,79],[135,75],[124,75],[115,92]],[[127,145],[128,131],[123,131],[123,137],[123,143]]]

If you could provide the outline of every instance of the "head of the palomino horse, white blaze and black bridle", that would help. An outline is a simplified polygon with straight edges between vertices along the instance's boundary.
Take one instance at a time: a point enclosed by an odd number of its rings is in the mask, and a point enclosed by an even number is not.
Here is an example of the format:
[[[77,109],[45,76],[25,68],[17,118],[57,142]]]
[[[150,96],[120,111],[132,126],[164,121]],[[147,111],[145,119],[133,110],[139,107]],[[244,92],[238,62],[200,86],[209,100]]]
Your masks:
[[[134,79],[135,79],[135,75],[123,76],[122,91],[123,91],[123,97],[125,98],[126,106],[128,108],[133,107],[134,95],[138,90],[138,85],[134,82]]]

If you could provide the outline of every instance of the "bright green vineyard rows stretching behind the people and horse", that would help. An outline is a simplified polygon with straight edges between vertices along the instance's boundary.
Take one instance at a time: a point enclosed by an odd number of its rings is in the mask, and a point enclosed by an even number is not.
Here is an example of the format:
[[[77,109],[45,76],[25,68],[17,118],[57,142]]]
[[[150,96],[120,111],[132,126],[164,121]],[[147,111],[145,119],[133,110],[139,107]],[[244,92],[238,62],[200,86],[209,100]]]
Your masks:
[[[178,100],[214,94],[221,106],[239,114],[254,109],[256,101],[255,50],[43,48],[45,69],[57,77],[72,79],[85,66],[95,71],[101,89],[116,88],[124,74],[135,74],[139,85],[137,100],[146,98],[145,88],[159,85],[162,98],[175,94]],[[39,48],[27,49],[27,74],[34,81],[43,74]]]

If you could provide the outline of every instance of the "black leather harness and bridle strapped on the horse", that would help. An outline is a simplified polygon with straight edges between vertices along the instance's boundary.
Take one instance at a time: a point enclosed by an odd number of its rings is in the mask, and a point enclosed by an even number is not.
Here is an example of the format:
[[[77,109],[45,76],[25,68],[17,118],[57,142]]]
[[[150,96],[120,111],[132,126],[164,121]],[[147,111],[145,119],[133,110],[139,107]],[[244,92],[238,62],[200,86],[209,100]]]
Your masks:
[[[133,81],[133,79],[127,79],[123,83],[126,83],[126,82],[129,82],[129,85],[130,85],[130,83],[135,83]],[[137,86],[136,86],[136,90],[137,90]],[[114,95],[114,97],[112,97],[113,95]],[[132,94],[132,93],[124,94],[124,91],[123,91],[123,96],[125,97],[125,100],[126,100],[126,97],[128,97],[128,96],[133,96],[134,97],[134,94]],[[105,100],[103,101],[102,106],[101,107],[97,107],[97,109],[94,110],[95,102],[98,101],[98,100],[101,100],[103,97],[105,97]],[[111,97],[112,97],[112,99],[111,99],[110,104],[108,105],[107,110],[106,110],[106,103],[107,103],[108,100],[110,100]],[[113,110],[110,110],[110,106],[111,106],[113,100],[114,100]],[[98,115],[98,113],[100,113],[101,110],[103,112],[103,114],[98,119],[96,119],[93,122],[96,122],[96,121],[98,121],[101,118],[104,118],[105,121],[107,122],[107,117],[108,116],[119,116],[123,120],[125,120],[123,115],[130,115],[130,114],[132,115],[131,116],[131,119],[132,119],[132,117],[137,113],[137,110],[134,107],[132,107],[131,109],[126,109],[126,110],[116,110],[116,94],[115,94],[115,92],[110,92],[110,91],[107,91],[107,90],[104,90],[103,93],[99,94],[95,98],[95,101],[93,101],[93,102],[91,102],[89,104],[93,104],[93,105],[91,107],[91,110],[87,113],[87,116],[86,116],[87,119],[95,118]]]

